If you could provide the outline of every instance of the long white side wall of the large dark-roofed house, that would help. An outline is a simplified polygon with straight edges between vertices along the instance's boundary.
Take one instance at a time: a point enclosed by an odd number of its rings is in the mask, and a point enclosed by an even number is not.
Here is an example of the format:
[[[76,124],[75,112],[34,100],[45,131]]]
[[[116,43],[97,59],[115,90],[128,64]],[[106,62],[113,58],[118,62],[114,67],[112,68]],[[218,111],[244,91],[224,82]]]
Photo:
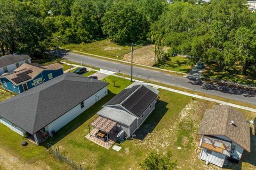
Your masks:
[[[106,96],[106,94],[107,94],[107,87],[101,89],[96,94],[94,94],[91,97],[84,100],[84,108],[81,108],[81,105],[78,104],[77,106],[72,108],[70,111],[68,111],[64,115],[60,116],[57,120],[55,120],[52,123],[50,123],[49,125],[45,126],[45,130],[49,131],[49,132],[52,132],[53,130],[58,131],[60,128],[62,128],[67,123],[72,121],[75,117],[77,117],[78,115],[83,113],[86,109],[88,109],[93,104],[95,104],[98,101],[98,99],[100,100],[101,98]]]

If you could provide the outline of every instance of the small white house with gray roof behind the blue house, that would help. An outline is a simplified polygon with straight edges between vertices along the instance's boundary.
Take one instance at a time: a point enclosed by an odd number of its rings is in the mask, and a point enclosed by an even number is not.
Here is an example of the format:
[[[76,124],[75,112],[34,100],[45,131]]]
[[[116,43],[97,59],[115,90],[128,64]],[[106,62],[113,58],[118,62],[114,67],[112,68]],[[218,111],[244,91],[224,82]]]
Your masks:
[[[0,75],[11,73],[24,63],[31,63],[26,54],[14,53],[0,57]]]

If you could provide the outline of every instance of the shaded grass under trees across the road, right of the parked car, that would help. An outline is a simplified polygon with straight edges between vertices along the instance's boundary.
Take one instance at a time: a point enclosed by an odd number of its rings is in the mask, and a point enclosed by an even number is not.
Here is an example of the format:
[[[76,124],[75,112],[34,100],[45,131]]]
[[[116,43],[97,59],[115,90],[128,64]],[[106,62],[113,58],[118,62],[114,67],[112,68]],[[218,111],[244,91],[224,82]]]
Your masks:
[[[217,65],[211,64],[206,67],[202,76],[206,78],[256,86],[256,72],[248,69],[246,75],[241,75],[241,69],[241,66],[235,65],[232,68],[222,70]]]

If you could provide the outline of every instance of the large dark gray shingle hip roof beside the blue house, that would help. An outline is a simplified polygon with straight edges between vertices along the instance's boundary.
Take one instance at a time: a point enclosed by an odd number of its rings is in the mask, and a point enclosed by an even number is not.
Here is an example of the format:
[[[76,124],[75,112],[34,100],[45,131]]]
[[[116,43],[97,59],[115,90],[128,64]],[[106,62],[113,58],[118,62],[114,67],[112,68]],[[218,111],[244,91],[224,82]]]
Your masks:
[[[0,116],[34,134],[107,85],[74,73],[62,74],[0,103]]]

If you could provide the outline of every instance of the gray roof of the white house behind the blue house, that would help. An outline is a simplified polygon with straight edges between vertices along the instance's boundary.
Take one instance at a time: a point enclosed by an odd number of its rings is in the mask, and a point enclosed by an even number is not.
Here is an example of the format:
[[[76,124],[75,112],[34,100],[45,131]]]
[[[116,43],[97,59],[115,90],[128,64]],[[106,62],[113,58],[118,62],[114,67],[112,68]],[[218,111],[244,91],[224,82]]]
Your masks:
[[[21,53],[5,55],[0,57],[0,68],[10,64],[15,64],[24,60],[29,60],[29,59],[31,58],[28,55],[21,54]]]

